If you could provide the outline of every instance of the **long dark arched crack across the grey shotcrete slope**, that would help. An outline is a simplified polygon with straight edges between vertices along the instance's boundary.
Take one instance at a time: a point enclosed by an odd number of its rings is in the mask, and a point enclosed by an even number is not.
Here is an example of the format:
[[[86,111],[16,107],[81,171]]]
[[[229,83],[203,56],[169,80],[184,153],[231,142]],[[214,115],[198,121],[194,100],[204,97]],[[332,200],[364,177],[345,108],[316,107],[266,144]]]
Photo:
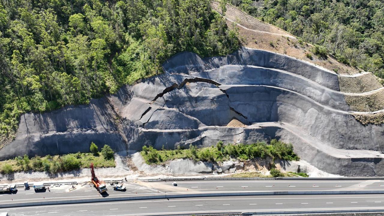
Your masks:
[[[181,89],[185,86],[186,83],[209,83],[209,84],[212,84],[212,85],[215,85],[220,91],[222,91],[228,98],[228,107],[231,111],[233,111],[234,113],[236,113],[237,115],[243,117],[245,120],[247,120],[247,123],[249,124],[248,122],[248,118],[247,116],[244,116],[242,113],[240,113],[239,111],[235,110],[235,108],[233,108],[232,106],[229,105],[230,101],[229,101],[229,95],[227,94],[227,92],[225,90],[223,90],[222,88],[220,88],[219,86],[222,85],[221,83],[218,83],[214,80],[210,80],[210,79],[207,79],[207,78],[201,78],[201,77],[194,77],[194,78],[185,78],[180,84],[177,84],[177,83],[174,83],[173,85],[165,88],[161,93],[157,94],[155,96],[155,98],[150,102],[150,104],[153,104],[158,98],[161,98],[162,96],[164,96],[166,93],[169,93],[175,89]],[[149,109],[150,110],[150,109]],[[144,112],[142,114],[142,116],[144,116],[149,110],[146,110],[146,112]],[[186,113],[184,113],[183,111],[177,109],[178,111],[180,111],[181,113],[183,113],[184,115],[187,115]],[[141,117],[142,117],[141,116]],[[187,115],[187,116],[190,116],[190,115]],[[192,117],[192,116],[190,116]]]

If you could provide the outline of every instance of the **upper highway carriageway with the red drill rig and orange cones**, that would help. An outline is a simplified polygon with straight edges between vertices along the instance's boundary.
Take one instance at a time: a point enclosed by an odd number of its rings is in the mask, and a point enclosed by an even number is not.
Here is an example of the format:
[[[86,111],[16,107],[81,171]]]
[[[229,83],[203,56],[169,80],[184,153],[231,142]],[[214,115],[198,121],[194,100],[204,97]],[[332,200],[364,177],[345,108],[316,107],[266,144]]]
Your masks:
[[[384,190],[384,180],[203,180],[124,183],[127,191],[114,191],[107,184],[108,191],[104,197],[140,196],[154,194],[187,194],[209,192],[247,192],[247,191],[331,191],[331,190]],[[35,192],[33,189],[18,188],[17,193],[0,194],[0,204],[26,201],[46,201],[62,199],[103,198],[93,186],[62,185],[51,187],[50,191]]]

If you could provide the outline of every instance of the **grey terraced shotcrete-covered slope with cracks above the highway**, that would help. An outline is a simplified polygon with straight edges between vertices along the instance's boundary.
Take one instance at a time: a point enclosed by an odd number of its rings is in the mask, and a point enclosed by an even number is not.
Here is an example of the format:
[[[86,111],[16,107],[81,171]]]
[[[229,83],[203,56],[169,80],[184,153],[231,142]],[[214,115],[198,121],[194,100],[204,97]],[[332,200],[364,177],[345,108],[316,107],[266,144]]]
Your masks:
[[[91,141],[126,153],[143,145],[280,138],[329,173],[384,174],[383,127],[356,121],[351,115],[356,108],[345,99],[371,93],[341,92],[340,75],[332,71],[250,48],[207,59],[180,53],[163,67],[164,74],[89,105],[25,114],[16,140],[0,150],[1,158],[88,151]],[[233,119],[242,126],[226,126]]]

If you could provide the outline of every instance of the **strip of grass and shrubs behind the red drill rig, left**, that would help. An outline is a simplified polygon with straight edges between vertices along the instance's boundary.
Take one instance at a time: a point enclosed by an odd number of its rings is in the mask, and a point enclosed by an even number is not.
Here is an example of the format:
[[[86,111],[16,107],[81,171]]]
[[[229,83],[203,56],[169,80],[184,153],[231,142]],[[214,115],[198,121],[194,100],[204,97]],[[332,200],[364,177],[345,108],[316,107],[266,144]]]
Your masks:
[[[10,174],[22,171],[45,171],[55,174],[62,171],[72,171],[80,168],[89,168],[91,162],[95,168],[115,167],[114,159],[105,159],[102,154],[74,153],[66,155],[47,155],[29,158],[27,155],[15,159],[0,161],[0,172]]]

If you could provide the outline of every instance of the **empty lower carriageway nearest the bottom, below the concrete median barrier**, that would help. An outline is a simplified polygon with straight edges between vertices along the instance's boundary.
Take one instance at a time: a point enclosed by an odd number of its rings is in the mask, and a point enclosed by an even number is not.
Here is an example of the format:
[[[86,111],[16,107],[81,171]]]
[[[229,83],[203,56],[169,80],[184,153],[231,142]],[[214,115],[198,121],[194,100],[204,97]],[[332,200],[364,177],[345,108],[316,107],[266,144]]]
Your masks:
[[[130,216],[151,214],[384,209],[384,195],[274,195],[152,199],[12,209],[10,216]]]

